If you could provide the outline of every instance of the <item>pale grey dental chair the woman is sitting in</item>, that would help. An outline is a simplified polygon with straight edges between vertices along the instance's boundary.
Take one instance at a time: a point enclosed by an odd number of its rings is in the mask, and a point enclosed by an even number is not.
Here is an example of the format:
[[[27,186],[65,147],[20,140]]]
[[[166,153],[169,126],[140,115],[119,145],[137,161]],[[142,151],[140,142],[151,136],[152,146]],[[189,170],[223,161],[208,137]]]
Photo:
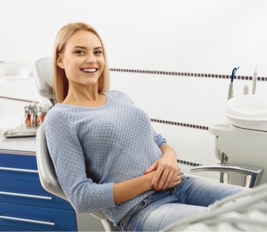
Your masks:
[[[53,85],[52,85],[52,58],[41,58],[34,64],[34,77],[38,93],[51,100],[54,105]],[[39,178],[42,187],[49,193],[52,193],[66,201],[68,201],[66,195],[61,189],[57,176],[55,173],[54,164],[50,157],[46,138],[41,124],[38,128],[36,135],[36,159]],[[86,217],[87,215],[87,217]],[[89,231],[88,217],[93,216],[94,218],[101,220],[104,229],[106,231],[119,231],[119,229],[110,222],[102,211],[96,211],[88,214],[76,213],[77,228],[78,231]]]

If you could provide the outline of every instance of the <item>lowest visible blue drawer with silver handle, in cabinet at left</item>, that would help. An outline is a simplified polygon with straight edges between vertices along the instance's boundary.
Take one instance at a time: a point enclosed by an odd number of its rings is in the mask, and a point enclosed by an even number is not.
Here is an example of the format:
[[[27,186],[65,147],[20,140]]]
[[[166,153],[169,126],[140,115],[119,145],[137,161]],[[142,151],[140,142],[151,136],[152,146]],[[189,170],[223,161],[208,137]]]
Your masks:
[[[0,225],[35,231],[77,231],[75,212],[2,202]]]

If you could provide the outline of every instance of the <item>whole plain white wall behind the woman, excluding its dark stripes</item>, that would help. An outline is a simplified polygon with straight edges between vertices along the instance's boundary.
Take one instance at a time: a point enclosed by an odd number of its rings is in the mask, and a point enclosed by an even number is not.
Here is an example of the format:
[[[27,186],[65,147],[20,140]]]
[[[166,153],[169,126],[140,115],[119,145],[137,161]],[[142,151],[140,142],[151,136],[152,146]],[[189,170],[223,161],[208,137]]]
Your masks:
[[[152,119],[208,127],[223,119],[230,79],[127,72],[150,70],[252,76],[267,94],[267,2],[264,0],[2,0],[0,61],[32,63],[51,57],[57,31],[84,21],[108,51],[111,88],[127,92]],[[234,94],[252,81],[235,80]],[[0,84],[0,96],[39,100],[33,79]],[[0,116],[23,111],[25,102],[0,98]],[[7,106],[14,106],[6,111]],[[20,108],[21,107],[21,108]],[[22,112],[23,114],[23,112]],[[218,162],[207,130],[153,122],[182,161]],[[181,164],[188,172],[190,165]],[[209,173],[200,175],[210,176]]]

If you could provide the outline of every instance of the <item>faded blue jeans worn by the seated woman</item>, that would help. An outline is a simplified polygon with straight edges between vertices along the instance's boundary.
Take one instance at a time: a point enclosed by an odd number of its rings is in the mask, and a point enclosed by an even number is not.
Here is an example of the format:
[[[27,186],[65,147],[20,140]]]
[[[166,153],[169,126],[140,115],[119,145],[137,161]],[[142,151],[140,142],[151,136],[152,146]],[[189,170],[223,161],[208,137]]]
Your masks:
[[[137,204],[119,223],[122,231],[160,231],[166,225],[206,212],[215,200],[247,188],[183,176],[170,190],[155,192]]]

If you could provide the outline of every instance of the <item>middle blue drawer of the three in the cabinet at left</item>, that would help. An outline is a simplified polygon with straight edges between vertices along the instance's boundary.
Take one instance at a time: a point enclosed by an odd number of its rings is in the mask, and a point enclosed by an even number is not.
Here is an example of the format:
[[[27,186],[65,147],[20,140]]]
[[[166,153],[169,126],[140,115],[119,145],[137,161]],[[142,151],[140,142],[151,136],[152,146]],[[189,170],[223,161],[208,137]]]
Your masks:
[[[39,182],[17,181],[15,179],[0,178],[0,201],[45,208],[74,210],[68,201],[47,193]]]

